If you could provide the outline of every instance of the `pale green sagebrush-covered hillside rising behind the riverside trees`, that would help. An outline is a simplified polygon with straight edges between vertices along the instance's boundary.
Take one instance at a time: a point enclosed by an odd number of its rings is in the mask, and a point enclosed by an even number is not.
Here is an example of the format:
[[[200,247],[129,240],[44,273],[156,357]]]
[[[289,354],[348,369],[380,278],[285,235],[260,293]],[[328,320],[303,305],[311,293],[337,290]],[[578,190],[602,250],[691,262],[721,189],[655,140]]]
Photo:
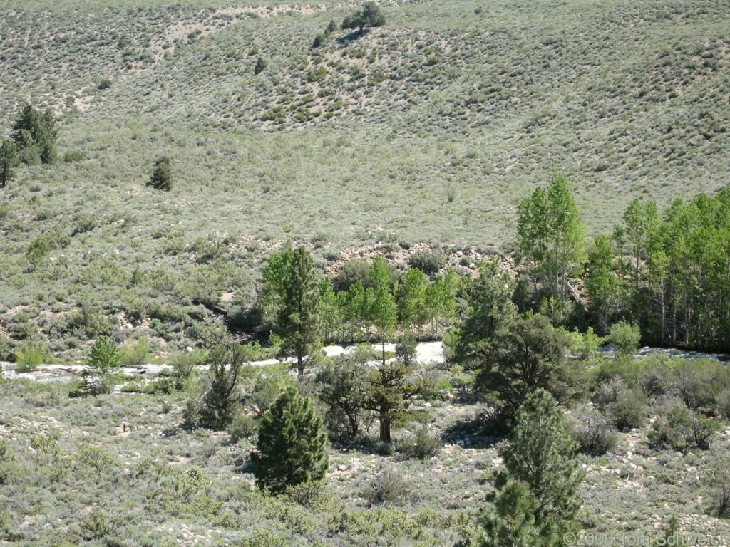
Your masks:
[[[665,205],[727,182],[719,0],[393,3],[387,26],[317,50],[350,8],[147,6],[0,2],[0,127],[23,101],[53,106],[61,158],[85,155],[22,168],[4,190],[8,307],[180,298],[130,293],[135,268],[203,278],[185,298],[243,287],[246,300],[281,240],[326,240],[322,256],[378,238],[504,246],[518,201],[558,170],[593,233],[636,196]],[[254,77],[258,55],[269,66]],[[281,123],[263,121],[277,106]],[[171,193],[145,187],[159,155],[174,160]],[[82,215],[98,227],[28,262],[34,238],[70,235]],[[210,279],[191,244],[227,235],[231,271]]]

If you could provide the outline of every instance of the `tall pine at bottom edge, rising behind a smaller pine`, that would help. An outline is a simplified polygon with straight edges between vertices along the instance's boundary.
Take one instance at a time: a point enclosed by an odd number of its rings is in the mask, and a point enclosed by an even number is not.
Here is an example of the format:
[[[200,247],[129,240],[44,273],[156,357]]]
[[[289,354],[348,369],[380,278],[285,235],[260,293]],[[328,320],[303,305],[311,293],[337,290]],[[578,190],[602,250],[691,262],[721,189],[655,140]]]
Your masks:
[[[577,527],[583,471],[576,462],[576,449],[556,400],[544,389],[529,395],[515,417],[510,442],[499,451],[504,459],[504,470],[496,477],[495,486],[499,494],[494,500],[503,505],[496,508],[496,516],[518,506],[530,508],[539,540],[529,545],[561,546],[564,533]],[[526,484],[534,503],[526,492],[515,486],[514,481]],[[492,520],[493,517],[484,522]],[[528,517],[523,527],[514,530],[515,534],[531,534],[530,524]],[[495,530],[509,532],[504,527],[491,527],[489,531],[493,533]],[[488,531],[486,527],[485,531]],[[498,539],[501,538],[492,538]],[[510,543],[511,539],[514,538],[502,539],[503,543],[486,544],[523,545]]]

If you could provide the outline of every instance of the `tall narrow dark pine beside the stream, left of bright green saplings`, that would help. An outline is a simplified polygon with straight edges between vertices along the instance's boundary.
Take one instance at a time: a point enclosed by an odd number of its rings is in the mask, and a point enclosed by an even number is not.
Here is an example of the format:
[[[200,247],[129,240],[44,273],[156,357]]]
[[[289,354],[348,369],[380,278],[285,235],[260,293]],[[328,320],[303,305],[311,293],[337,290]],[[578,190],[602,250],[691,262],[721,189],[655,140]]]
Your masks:
[[[304,247],[294,249],[285,271],[283,298],[279,309],[277,334],[282,338],[281,354],[296,357],[296,370],[304,376],[307,356],[321,345],[320,290],[312,255]]]

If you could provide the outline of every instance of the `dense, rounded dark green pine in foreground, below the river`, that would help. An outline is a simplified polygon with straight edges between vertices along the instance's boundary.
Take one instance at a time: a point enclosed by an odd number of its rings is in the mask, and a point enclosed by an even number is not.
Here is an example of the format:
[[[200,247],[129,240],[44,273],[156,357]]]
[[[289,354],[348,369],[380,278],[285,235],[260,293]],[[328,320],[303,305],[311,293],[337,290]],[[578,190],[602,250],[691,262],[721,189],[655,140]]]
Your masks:
[[[261,419],[255,463],[256,485],[271,492],[321,481],[329,465],[327,435],[308,397],[289,387]]]

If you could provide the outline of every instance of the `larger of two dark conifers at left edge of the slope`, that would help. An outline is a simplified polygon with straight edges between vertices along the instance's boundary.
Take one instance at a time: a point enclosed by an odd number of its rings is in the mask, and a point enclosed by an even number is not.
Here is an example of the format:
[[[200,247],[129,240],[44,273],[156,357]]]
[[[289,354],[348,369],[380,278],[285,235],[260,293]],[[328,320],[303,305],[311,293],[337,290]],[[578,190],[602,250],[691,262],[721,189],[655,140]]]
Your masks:
[[[55,161],[55,116],[49,108],[39,112],[30,104],[20,109],[12,126],[12,140],[18,147],[20,158],[28,165]]]

